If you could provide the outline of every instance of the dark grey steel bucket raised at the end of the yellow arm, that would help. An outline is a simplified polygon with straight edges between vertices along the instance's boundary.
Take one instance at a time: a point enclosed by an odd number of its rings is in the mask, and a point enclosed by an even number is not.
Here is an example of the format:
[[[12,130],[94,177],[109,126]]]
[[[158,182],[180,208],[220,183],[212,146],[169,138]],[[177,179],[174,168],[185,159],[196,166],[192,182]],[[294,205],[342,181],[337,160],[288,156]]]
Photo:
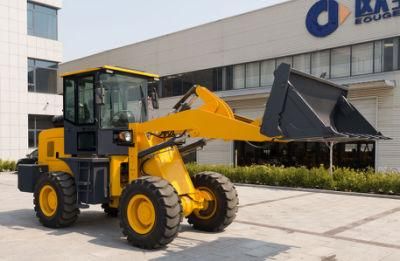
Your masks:
[[[281,64],[260,132],[287,141],[388,139],[346,99],[347,88]]]

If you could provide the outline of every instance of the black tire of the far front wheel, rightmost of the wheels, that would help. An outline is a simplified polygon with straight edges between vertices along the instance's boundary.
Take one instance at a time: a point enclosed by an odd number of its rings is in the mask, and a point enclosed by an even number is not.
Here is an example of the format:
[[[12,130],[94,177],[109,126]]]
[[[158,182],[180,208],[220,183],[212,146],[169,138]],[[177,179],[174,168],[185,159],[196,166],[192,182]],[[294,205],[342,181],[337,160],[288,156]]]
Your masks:
[[[239,200],[235,186],[227,177],[211,171],[194,175],[192,181],[196,188],[207,188],[215,195],[216,206],[213,203],[208,209],[194,211],[188,216],[189,224],[197,230],[223,231],[233,222],[238,210]],[[210,208],[214,210],[210,211]]]

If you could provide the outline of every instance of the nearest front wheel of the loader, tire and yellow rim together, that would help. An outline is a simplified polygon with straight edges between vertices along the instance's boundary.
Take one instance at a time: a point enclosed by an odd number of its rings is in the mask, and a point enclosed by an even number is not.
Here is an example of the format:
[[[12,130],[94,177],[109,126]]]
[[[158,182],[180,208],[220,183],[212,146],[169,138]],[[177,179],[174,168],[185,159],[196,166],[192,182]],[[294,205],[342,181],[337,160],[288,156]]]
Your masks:
[[[134,206],[152,211],[136,211]],[[128,242],[145,249],[161,248],[170,243],[178,235],[182,221],[182,206],[174,187],[153,176],[140,177],[125,187],[119,213],[120,227]],[[152,213],[143,215],[154,218],[143,218],[141,223],[136,213]]]

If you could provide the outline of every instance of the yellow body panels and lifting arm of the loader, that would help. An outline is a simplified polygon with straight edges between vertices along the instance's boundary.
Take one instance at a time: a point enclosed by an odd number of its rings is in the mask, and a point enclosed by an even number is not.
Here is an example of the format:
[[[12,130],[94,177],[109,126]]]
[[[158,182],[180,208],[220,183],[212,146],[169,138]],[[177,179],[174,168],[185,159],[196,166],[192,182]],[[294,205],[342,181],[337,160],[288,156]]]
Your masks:
[[[120,166],[129,162],[129,183],[141,175],[159,176],[175,188],[183,207],[184,216],[194,210],[205,208],[205,201],[211,200],[206,193],[195,189],[185,164],[176,146],[162,149],[143,159],[140,151],[165,141],[150,133],[173,131],[176,135],[185,134],[191,138],[202,137],[223,140],[271,141],[273,138],[260,134],[260,121],[235,115],[222,99],[208,89],[197,86],[195,95],[202,101],[197,108],[171,113],[143,123],[131,123],[134,146],[127,156],[110,157],[110,206],[118,207],[123,185],[120,182]],[[63,129],[43,131],[39,138],[39,164],[49,166],[49,171],[64,171],[74,175],[68,166],[59,159],[47,158],[47,141],[55,142],[57,151],[64,151]],[[59,155],[60,158],[69,155]]]

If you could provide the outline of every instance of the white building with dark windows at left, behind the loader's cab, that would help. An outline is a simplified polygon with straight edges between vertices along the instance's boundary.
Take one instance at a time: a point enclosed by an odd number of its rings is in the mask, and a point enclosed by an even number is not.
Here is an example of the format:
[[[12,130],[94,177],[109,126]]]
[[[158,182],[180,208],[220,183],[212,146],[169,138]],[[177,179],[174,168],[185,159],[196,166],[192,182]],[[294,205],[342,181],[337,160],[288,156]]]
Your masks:
[[[0,0],[0,159],[32,151],[40,130],[62,113],[60,8],[60,0]]]

